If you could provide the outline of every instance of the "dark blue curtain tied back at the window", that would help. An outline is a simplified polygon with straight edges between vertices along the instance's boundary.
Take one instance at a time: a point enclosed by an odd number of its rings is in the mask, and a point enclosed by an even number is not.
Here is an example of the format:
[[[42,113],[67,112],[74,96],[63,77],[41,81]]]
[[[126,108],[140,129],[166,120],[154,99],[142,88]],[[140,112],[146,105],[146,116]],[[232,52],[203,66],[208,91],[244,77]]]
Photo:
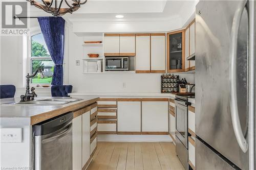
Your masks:
[[[63,56],[65,38],[65,20],[62,17],[38,17],[42,35],[55,64],[52,84],[63,84]]]

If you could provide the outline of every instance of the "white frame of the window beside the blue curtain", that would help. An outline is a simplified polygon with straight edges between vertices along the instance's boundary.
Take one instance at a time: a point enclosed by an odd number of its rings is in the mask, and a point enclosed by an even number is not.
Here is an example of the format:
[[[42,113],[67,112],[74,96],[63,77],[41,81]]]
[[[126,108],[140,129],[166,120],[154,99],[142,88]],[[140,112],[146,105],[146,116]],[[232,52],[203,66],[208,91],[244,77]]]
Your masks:
[[[28,44],[28,47],[29,47],[29,53],[28,53],[28,66],[29,66],[29,72],[30,72],[30,75],[33,74],[32,72],[32,61],[33,60],[52,60],[52,57],[32,57],[32,37],[35,36],[35,35],[38,35],[38,34],[42,34],[41,31],[37,31],[33,34],[31,34],[29,36],[29,44]],[[52,60],[53,61],[53,60]],[[30,84],[31,85],[51,85],[51,83],[33,83],[32,82],[32,78],[30,79]]]

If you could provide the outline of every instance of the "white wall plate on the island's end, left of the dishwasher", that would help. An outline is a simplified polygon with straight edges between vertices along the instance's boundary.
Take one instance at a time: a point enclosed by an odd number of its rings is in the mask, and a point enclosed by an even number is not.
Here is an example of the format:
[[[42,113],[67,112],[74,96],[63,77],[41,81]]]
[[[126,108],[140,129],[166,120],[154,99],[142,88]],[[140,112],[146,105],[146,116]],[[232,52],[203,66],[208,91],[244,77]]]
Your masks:
[[[1,143],[22,142],[22,128],[0,128]]]

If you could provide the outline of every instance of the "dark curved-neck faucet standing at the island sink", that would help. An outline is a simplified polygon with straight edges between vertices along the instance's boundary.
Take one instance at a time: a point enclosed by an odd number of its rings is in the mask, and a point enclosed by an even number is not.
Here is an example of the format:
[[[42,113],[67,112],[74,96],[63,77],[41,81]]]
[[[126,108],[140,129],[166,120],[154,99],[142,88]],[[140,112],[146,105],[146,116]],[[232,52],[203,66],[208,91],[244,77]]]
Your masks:
[[[37,94],[34,91],[35,87],[31,87],[31,92],[29,91],[29,82],[30,82],[30,78],[35,77],[35,75],[37,74],[38,71],[40,72],[41,78],[45,77],[40,68],[35,70],[32,75],[29,76],[29,74],[28,74],[26,76],[26,78],[27,78],[26,93],[25,93],[25,95],[20,95],[20,102],[33,101],[34,98],[37,97]]]

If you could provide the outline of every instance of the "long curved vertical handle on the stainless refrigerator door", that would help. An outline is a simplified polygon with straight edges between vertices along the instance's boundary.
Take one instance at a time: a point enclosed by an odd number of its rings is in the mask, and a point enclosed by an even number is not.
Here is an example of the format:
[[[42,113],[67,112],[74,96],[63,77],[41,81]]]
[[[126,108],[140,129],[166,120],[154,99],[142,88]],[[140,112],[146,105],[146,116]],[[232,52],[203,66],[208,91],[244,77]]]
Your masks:
[[[243,135],[237,102],[237,46],[238,32],[243,10],[247,1],[242,1],[234,14],[231,28],[229,48],[229,84],[230,84],[230,113],[234,134],[236,135],[241,150],[245,153],[248,150],[248,143]]]

